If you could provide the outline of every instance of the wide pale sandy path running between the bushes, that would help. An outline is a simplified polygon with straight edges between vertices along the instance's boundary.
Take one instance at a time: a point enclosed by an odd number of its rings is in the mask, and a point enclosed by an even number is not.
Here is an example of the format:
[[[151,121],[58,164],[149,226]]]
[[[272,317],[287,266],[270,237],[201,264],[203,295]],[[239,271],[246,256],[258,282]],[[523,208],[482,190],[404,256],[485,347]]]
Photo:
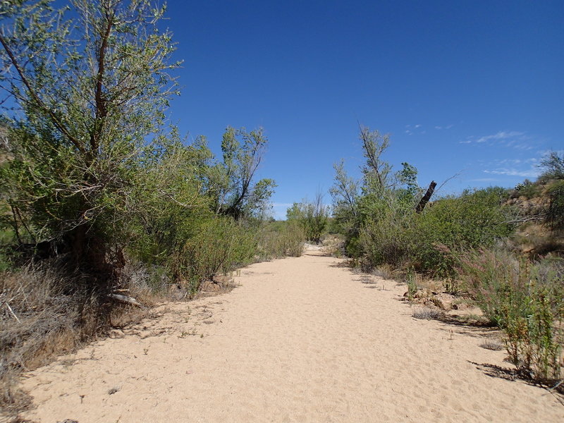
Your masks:
[[[503,352],[479,348],[475,329],[413,319],[399,301],[405,286],[362,283],[339,262],[309,251],[254,264],[231,293],[169,305],[140,333],[80,350],[75,364],[62,357],[24,381],[38,405],[27,417],[564,422],[551,393],[472,364],[508,367]]]

